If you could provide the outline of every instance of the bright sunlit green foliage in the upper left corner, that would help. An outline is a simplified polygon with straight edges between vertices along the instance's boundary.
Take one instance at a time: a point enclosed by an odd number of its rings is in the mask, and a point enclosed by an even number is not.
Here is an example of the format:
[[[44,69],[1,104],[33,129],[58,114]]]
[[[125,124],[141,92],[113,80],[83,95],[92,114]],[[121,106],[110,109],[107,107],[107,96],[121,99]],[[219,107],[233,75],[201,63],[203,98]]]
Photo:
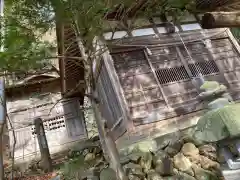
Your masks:
[[[46,66],[49,61],[45,58],[51,56],[54,46],[41,38],[53,25],[52,11],[34,1],[8,0],[3,21],[0,71],[28,71]]]

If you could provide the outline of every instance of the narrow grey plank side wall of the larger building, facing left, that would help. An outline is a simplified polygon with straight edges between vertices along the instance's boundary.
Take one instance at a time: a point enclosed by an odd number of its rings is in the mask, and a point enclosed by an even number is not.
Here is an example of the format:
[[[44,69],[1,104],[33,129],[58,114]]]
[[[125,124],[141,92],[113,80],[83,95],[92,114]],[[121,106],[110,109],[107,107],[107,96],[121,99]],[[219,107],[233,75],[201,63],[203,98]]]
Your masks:
[[[115,84],[113,74],[109,70],[109,64],[106,60],[103,60],[96,87],[101,115],[106,120],[110,131],[113,132],[114,140],[123,135],[127,130],[126,109],[122,106],[123,102],[119,92],[115,89]],[[100,137],[103,137],[101,132]]]

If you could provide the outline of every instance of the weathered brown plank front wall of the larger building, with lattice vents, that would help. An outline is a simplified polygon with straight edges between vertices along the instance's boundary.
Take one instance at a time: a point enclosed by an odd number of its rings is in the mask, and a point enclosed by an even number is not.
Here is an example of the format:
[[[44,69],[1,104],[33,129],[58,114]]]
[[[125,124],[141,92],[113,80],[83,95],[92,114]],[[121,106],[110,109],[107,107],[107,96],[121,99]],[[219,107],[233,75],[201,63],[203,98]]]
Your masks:
[[[226,85],[234,100],[240,98],[239,54],[226,29],[181,32],[181,37],[191,58],[177,34],[109,42],[115,44],[110,51],[134,125],[203,109],[196,98],[199,73]]]

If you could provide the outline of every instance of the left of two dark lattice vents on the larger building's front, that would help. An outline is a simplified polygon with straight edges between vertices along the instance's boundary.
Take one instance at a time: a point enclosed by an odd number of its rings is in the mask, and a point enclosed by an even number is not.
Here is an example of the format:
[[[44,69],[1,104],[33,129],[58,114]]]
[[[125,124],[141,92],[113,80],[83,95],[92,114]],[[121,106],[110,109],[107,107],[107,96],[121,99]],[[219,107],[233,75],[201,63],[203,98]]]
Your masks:
[[[156,74],[160,84],[166,84],[190,78],[184,66],[158,69],[156,70]]]

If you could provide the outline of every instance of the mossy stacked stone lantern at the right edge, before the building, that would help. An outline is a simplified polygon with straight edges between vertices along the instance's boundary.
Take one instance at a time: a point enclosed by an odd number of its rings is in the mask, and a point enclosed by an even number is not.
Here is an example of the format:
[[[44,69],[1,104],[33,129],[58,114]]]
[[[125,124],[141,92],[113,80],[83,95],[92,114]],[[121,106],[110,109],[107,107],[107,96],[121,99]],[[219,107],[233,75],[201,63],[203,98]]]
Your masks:
[[[209,111],[199,119],[195,137],[216,143],[218,154],[224,157],[223,163],[226,163],[229,169],[239,170],[240,162],[234,155],[239,157],[240,153],[240,104],[231,102],[227,88],[218,82],[206,82],[201,89],[204,92],[199,98],[206,102]],[[234,153],[230,146],[233,146],[237,153]]]

